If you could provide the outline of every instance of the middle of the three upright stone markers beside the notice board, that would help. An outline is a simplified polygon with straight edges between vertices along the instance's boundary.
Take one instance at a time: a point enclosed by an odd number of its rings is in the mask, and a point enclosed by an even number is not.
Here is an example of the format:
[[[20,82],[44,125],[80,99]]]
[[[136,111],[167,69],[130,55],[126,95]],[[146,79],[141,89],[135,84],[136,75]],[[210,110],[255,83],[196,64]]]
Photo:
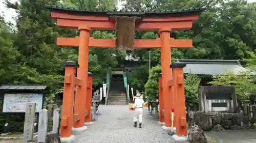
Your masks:
[[[48,110],[41,109],[39,112],[39,123],[38,123],[38,137],[37,142],[46,142],[47,137],[47,125],[48,125]]]

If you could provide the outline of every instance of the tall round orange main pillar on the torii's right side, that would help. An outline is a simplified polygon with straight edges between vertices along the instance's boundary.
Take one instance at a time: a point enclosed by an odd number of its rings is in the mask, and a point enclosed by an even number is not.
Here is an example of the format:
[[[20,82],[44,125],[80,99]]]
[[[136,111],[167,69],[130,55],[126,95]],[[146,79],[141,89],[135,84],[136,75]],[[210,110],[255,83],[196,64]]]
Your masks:
[[[170,58],[170,27],[159,28],[161,39],[161,69],[163,85],[163,102],[164,102],[164,122],[166,127],[170,127],[170,110],[173,107],[173,88],[169,87],[168,81],[173,79]]]

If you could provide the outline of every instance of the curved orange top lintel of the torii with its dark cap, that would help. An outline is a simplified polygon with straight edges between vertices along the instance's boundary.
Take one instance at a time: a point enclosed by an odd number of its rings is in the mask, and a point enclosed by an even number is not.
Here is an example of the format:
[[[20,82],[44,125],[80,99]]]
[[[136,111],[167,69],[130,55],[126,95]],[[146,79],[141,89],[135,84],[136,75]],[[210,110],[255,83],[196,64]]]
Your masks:
[[[135,21],[136,31],[156,31],[160,27],[170,27],[174,30],[185,30],[192,27],[193,21],[198,20],[203,8],[154,11],[154,12],[123,12],[123,11],[93,11],[69,9],[46,5],[51,10],[52,18],[57,19],[60,27],[77,28],[79,25],[96,30],[116,30],[115,16],[139,17]],[[114,17],[113,17],[114,16]]]

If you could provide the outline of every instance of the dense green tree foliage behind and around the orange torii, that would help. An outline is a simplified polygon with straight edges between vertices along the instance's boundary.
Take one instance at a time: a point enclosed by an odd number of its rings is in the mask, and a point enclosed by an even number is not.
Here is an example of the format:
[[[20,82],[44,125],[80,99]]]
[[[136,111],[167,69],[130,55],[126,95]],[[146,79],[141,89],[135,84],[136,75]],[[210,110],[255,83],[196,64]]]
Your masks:
[[[124,10],[173,10],[205,7],[199,20],[191,30],[173,31],[176,39],[193,39],[194,47],[190,49],[172,49],[175,59],[251,59],[255,53],[256,39],[256,3],[244,0],[176,0],[176,1],[135,1],[122,0]],[[77,30],[62,29],[56,26],[49,10],[44,5],[51,4],[81,9],[113,10],[117,8],[116,0],[19,0],[7,7],[17,12],[16,26],[12,28],[0,18],[0,84],[46,84],[51,94],[61,91],[63,68],[61,61],[76,61],[77,47],[56,46],[57,37],[78,36]],[[95,38],[115,38],[113,31],[93,31]],[[155,39],[158,33],[136,32],[136,39]],[[160,49],[135,49],[133,55],[140,61],[151,60],[160,64]],[[125,51],[116,52],[109,48],[91,48],[89,71],[93,72],[94,85],[105,81],[105,73],[119,66],[125,58]],[[252,61],[253,62],[253,61]],[[155,66],[155,65],[153,65]],[[143,88],[149,75],[149,65],[141,64],[139,68],[127,73],[132,87]],[[154,74],[152,74],[153,76]],[[149,80],[151,80],[150,77]],[[146,87],[149,85],[146,85]],[[153,86],[153,85],[152,85]],[[193,93],[194,94],[194,93]],[[193,97],[193,96],[191,96]]]

